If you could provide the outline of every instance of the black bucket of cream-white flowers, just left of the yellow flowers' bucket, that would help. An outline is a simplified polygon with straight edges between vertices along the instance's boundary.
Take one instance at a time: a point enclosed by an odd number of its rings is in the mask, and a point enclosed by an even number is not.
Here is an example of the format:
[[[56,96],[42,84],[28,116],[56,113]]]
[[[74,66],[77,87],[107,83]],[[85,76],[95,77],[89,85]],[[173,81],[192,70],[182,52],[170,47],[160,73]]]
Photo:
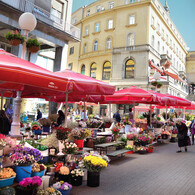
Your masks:
[[[83,183],[84,171],[81,169],[74,169],[71,172],[71,184],[73,186],[80,186]]]

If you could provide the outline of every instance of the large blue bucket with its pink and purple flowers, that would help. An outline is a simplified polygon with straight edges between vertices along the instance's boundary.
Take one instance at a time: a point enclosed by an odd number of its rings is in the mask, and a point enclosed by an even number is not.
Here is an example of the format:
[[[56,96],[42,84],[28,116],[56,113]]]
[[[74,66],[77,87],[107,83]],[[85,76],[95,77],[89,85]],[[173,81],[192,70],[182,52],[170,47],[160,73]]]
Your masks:
[[[32,164],[42,159],[41,152],[37,149],[24,147],[19,144],[12,149],[11,162],[15,165],[16,181],[31,176]]]

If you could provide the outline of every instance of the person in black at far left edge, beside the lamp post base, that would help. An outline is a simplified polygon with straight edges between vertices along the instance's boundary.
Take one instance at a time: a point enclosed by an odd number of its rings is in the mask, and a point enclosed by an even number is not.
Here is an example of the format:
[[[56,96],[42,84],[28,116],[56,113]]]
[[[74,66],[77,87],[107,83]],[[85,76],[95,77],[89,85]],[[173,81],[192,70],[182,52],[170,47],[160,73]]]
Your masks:
[[[10,120],[4,110],[0,110],[0,133],[8,135],[11,128]]]

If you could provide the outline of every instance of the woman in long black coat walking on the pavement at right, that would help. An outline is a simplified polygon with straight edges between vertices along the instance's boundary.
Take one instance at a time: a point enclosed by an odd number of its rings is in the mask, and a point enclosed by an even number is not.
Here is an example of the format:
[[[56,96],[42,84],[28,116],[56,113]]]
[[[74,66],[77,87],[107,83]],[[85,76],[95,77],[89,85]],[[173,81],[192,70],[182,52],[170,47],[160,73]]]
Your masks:
[[[186,124],[181,119],[178,119],[176,121],[176,127],[178,130],[177,137],[178,137],[178,147],[179,147],[179,150],[177,151],[177,153],[182,152],[181,147],[185,147],[185,152],[187,152],[188,151],[187,150],[188,128],[187,128]]]

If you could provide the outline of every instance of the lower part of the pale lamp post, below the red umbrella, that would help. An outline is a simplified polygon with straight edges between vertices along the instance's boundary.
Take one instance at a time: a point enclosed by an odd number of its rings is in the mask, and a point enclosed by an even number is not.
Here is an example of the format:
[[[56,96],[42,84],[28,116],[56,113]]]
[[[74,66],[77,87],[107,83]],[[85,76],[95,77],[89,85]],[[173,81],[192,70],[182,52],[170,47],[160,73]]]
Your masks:
[[[17,91],[17,97],[14,99],[14,114],[11,125],[10,135],[12,137],[20,136],[20,108],[21,108],[21,91]]]

